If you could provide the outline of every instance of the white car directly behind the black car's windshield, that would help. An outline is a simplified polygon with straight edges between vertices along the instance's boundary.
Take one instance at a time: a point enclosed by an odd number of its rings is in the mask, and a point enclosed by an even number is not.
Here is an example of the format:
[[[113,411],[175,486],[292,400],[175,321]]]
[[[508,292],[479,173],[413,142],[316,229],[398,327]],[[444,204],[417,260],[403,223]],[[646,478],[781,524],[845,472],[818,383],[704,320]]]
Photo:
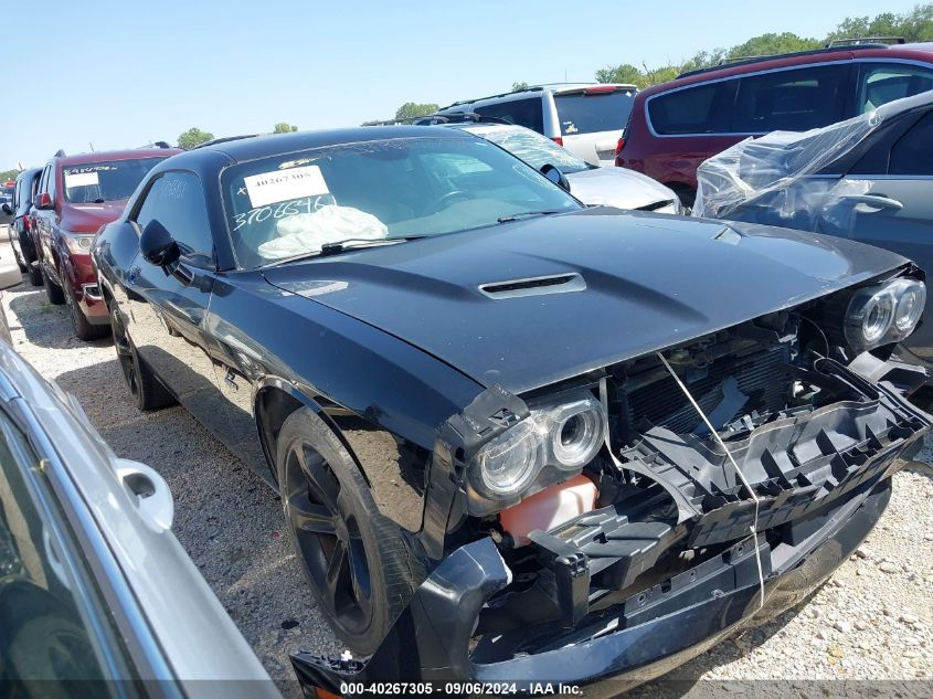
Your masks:
[[[480,136],[524,160],[536,170],[556,167],[566,177],[570,192],[584,204],[681,213],[674,190],[651,178],[625,168],[597,168],[540,134],[511,124],[450,124]]]

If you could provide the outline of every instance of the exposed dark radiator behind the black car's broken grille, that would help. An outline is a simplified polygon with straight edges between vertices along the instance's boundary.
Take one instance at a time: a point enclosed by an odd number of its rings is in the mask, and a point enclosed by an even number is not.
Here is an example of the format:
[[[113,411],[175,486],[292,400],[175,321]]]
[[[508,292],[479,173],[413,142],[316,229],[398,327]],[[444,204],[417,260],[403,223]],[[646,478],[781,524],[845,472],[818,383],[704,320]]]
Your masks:
[[[787,347],[775,346],[738,360],[732,356],[722,357],[710,364],[706,377],[685,382],[703,412],[707,415],[717,414],[720,419],[717,421],[720,424],[714,426],[722,427],[746,413],[757,411],[765,414],[785,406],[788,379],[782,364],[788,361],[788,352]],[[736,410],[723,413],[722,409],[717,411],[717,407],[723,403],[723,381],[730,378],[738,382],[739,392],[748,400]],[[733,392],[731,404],[738,405],[734,395]],[[701,426],[696,411],[670,377],[629,393],[628,410],[630,424],[637,424],[646,417],[654,425],[680,434],[693,432]]]

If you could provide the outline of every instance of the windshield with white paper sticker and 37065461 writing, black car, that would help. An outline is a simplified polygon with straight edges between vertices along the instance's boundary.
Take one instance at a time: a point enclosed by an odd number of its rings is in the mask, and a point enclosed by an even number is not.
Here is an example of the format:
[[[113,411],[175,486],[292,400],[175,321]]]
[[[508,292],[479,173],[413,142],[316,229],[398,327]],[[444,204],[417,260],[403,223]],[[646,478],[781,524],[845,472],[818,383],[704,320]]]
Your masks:
[[[470,136],[329,146],[253,160],[221,179],[241,268],[574,211],[575,199],[492,144]]]

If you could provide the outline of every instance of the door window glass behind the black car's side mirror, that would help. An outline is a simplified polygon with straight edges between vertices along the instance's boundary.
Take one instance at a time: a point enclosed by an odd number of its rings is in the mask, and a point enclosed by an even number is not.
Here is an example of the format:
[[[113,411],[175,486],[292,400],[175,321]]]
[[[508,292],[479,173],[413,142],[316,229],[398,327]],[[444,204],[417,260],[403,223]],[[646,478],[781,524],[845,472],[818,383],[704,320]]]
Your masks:
[[[193,172],[166,172],[149,188],[135,216],[139,230],[152,219],[161,223],[189,262],[209,265],[214,242],[208,223],[208,203],[201,180]]]

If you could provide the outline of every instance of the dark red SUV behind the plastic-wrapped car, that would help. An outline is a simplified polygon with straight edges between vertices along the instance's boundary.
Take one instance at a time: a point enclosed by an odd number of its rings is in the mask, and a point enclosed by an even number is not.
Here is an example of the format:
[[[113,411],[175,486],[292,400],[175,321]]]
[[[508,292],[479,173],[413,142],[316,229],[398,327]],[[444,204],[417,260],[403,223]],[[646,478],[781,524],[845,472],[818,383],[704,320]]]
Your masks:
[[[805,131],[933,88],[933,43],[852,43],[683,73],[635,97],[615,163],[692,205],[697,167],[749,136]]]

